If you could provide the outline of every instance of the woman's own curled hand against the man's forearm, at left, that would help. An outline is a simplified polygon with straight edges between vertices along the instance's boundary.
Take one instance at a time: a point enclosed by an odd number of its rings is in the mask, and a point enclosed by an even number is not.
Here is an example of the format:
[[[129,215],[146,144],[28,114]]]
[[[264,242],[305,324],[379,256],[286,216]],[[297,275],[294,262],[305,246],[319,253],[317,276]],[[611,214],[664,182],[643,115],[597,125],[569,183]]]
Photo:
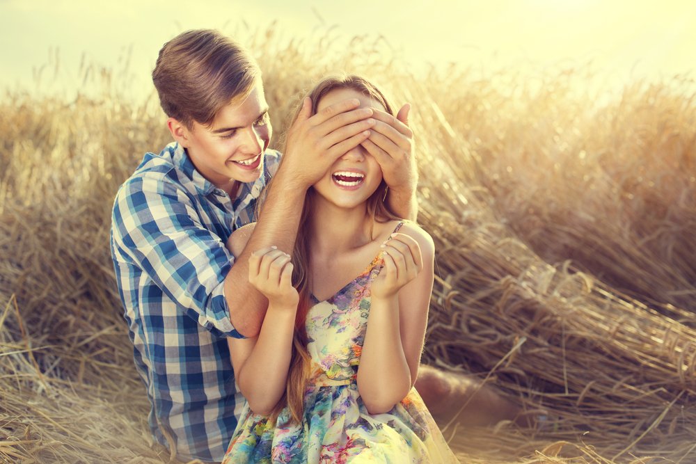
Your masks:
[[[268,298],[269,305],[297,307],[299,294],[292,286],[292,263],[287,253],[274,247],[251,253],[249,282]]]

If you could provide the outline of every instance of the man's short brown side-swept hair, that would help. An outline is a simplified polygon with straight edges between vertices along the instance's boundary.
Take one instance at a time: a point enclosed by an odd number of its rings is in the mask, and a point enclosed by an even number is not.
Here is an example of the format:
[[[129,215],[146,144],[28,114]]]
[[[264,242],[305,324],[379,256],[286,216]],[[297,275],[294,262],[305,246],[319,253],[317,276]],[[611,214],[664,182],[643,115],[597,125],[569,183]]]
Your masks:
[[[191,129],[251,92],[261,71],[251,54],[219,31],[180,33],[159,51],[152,81],[166,115]]]

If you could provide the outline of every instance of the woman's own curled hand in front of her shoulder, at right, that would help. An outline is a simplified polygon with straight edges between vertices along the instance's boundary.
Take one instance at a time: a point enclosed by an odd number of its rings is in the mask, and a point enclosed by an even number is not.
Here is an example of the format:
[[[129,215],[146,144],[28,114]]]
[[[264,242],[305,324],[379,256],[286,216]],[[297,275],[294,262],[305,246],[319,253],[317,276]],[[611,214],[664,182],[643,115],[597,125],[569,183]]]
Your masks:
[[[423,269],[418,242],[395,232],[383,243],[384,266],[372,282],[372,298],[390,298]]]

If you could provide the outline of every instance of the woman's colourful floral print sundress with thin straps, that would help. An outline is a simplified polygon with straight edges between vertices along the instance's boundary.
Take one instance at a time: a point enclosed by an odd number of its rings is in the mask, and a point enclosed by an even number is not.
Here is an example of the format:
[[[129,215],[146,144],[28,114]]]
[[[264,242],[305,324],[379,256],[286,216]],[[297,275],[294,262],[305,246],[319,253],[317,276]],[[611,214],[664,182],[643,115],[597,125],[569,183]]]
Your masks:
[[[272,424],[246,404],[223,464],[459,462],[415,389],[388,413],[375,415],[358,393],[370,283],[382,265],[380,253],[331,298],[314,298],[306,322],[313,374],[302,423],[293,423],[285,408]]]

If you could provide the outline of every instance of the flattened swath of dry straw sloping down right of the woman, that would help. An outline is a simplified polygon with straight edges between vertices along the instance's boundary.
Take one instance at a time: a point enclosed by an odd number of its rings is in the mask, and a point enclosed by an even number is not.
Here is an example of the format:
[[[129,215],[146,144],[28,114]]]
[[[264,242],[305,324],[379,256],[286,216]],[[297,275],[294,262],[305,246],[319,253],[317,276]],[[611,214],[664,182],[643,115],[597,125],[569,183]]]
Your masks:
[[[526,408],[546,410],[545,438],[585,442],[612,460],[690,451],[693,329],[531,259],[519,241],[447,229],[461,238],[438,243],[448,250],[438,258],[446,278],[434,292],[427,359],[480,373]]]

